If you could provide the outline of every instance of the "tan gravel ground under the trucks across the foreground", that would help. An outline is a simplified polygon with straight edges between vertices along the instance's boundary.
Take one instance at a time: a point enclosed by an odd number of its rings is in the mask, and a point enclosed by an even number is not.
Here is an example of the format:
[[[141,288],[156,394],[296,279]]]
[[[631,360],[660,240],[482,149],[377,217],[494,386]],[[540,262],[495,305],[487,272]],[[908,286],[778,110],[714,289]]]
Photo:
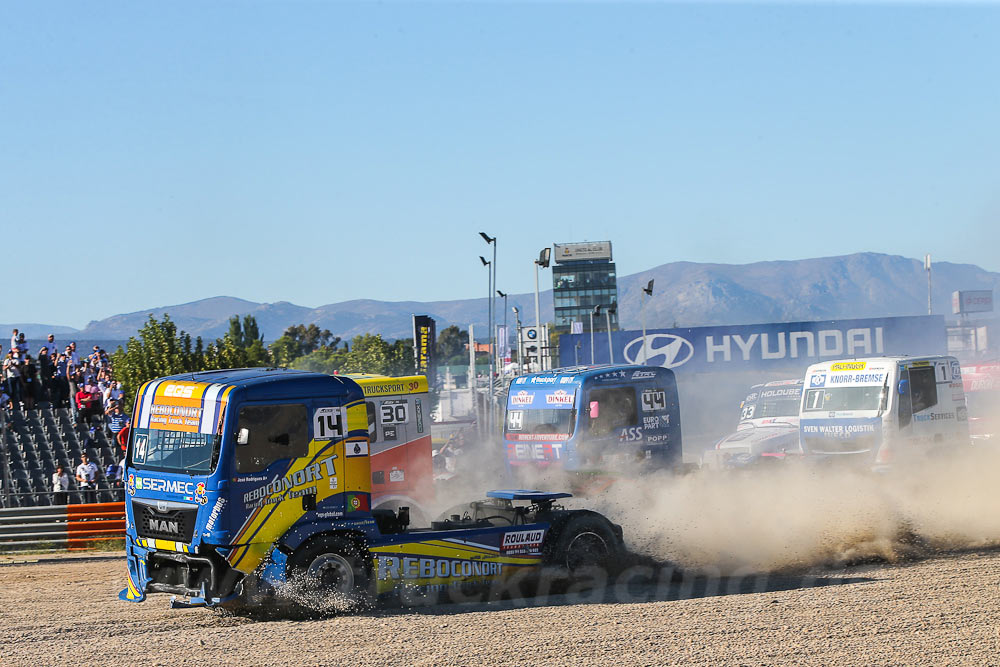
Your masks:
[[[117,599],[117,559],[0,566],[0,664],[996,664],[1000,551],[314,621]]]

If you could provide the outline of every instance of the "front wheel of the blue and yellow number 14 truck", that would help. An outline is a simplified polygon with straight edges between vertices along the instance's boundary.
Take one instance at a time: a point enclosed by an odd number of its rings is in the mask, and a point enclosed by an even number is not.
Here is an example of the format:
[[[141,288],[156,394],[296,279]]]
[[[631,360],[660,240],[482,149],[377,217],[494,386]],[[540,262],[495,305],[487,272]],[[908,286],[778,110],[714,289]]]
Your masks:
[[[346,611],[370,603],[366,558],[352,540],[324,535],[288,559],[295,600],[313,611]]]

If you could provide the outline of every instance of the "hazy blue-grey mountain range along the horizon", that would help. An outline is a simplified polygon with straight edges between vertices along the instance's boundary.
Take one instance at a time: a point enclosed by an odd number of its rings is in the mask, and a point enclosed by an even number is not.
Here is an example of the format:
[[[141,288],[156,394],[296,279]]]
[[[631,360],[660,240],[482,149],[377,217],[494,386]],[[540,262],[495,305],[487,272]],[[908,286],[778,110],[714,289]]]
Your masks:
[[[1000,287],[1000,273],[971,264],[935,262],[932,269],[935,313],[951,314],[951,293],[955,290]],[[650,329],[927,312],[927,275],[923,262],[898,255],[865,252],[738,265],[672,262],[618,278],[622,328],[639,328],[639,295],[650,279],[655,281],[653,296],[645,306],[646,326]],[[502,322],[503,299],[496,301]],[[533,293],[509,295],[507,308],[514,306],[520,311],[522,323],[534,323]],[[542,322],[553,319],[552,290],[541,293],[540,309]],[[465,329],[472,323],[480,337],[486,332],[487,300],[356,299],[308,308],[288,301],[257,303],[216,296],[114,315],[92,321],[79,331],[41,324],[0,324],[0,331],[18,327],[27,330],[29,337],[51,330],[85,338],[123,340],[134,335],[149,314],[161,318],[166,313],[180,329],[206,339],[222,336],[233,315],[253,315],[266,340],[274,340],[287,327],[300,323],[315,323],[344,339],[363,333],[404,338],[412,335],[414,313],[432,316],[438,331],[450,324]],[[507,315],[508,324],[513,326],[513,313],[507,310]]]

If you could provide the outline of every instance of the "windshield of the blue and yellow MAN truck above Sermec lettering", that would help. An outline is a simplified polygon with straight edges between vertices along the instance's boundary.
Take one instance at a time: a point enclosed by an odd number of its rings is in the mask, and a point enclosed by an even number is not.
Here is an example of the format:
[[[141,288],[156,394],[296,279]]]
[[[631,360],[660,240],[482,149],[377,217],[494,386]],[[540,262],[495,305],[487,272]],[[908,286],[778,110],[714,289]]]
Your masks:
[[[140,470],[212,472],[219,460],[220,440],[210,433],[137,428],[132,438],[132,465]]]

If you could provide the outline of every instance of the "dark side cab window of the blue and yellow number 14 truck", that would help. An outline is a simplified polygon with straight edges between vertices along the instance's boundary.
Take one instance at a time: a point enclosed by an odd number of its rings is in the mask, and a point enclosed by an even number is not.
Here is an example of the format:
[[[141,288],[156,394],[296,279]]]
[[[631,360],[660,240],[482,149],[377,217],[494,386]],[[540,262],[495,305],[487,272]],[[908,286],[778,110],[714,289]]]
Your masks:
[[[275,461],[309,455],[306,406],[245,405],[236,427],[236,472],[258,472]]]

